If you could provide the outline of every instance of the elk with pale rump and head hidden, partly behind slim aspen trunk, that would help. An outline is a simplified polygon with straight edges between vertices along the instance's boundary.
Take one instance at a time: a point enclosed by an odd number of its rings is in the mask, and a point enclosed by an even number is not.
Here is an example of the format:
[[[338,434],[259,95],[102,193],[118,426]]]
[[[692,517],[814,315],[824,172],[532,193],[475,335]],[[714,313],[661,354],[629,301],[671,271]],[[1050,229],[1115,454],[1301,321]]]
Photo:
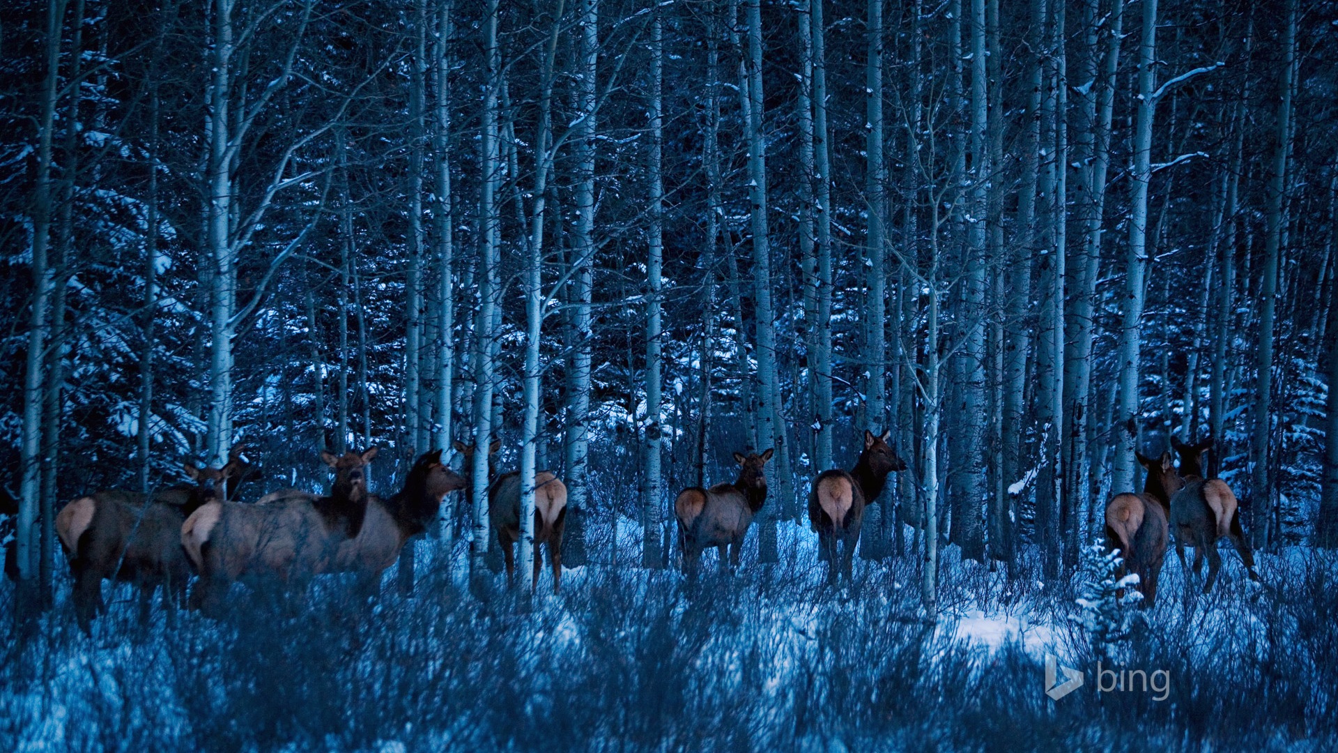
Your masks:
[[[567,486],[554,473],[539,470],[534,474],[534,580],[539,586],[542,557],[539,547],[549,545],[553,564],[553,592],[562,586],[562,529],[567,520]],[[498,543],[506,556],[507,581],[515,577],[515,543],[520,540],[520,472],[503,473],[488,489],[488,521],[496,531]],[[523,563],[522,563],[523,564]]]

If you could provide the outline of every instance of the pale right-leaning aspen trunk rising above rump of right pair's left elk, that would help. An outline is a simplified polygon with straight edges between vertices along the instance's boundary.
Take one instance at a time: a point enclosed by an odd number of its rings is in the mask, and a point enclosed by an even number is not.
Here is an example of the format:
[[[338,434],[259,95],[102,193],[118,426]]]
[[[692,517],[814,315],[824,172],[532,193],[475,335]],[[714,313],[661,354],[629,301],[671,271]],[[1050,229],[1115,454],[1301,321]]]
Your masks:
[[[1139,358],[1147,272],[1148,182],[1152,180],[1152,115],[1156,86],[1157,0],[1143,0],[1143,36],[1139,42],[1137,121],[1133,131],[1133,190],[1129,208],[1129,249],[1120,327],[1120,397],[1115,421],[1115,464],[1111,489],[1133,490],[1133,452],[1139,441]]]

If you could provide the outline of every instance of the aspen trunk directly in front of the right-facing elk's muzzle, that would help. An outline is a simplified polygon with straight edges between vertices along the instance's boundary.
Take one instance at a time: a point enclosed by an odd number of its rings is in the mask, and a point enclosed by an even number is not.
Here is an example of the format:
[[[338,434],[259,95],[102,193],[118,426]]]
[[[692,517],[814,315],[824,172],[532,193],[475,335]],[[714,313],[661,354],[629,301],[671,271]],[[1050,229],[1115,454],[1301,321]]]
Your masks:
[[[502,178],[502,155],[498,147],[498,91],[502,71],[498,59],[498,3],[490,0],[484,16],[484,59],[487,64],[487,88],[483,98],[483,129],[479,142],[479,159],[483,166],[483,182],[479,190],[479,311],[475,328],[474,351],[474,477],[470,489],[474,492],[474,545],[470,557],[470,579],[478,587],[482,583],[486,565],[483,557],[488,551],[488,446],[492,443],[492,340],[494,308],[498,283],[498,216],[495,196]]]

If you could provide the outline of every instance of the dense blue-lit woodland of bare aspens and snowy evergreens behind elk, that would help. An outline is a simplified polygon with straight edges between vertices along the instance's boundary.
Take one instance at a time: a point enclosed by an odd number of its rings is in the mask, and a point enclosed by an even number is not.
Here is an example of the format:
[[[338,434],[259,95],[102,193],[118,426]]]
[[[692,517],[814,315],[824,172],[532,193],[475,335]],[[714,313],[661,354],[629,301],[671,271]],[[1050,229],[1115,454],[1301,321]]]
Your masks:
[[[731,452],[776,448],[776,561],[890,430],[862,551],[930,616],[941,540],[1072,572],[1171,433],[1256,547],[1338,543],[1334,3],[4,16],[0,460],[45,588],[60,504],[234,445],[266,488],[379,445],[387,490],[499,437],[566,480],[569,564],[661,567]],[[482,500],[443,527],[479,556]]]

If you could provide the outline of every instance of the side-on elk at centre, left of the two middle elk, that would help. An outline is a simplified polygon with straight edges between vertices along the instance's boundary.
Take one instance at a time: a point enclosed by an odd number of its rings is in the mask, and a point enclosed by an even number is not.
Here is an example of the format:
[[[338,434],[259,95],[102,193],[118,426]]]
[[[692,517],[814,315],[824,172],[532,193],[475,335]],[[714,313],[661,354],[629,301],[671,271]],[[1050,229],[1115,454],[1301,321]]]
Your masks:
[[[697,561],[706,547],[719,548],[721,571],[731,565],[739,567],[744,535],[767,501],[767,474],[763,466],[771,456],[772,450],[747,456],[735,453],[739,478],[733,484],[716,484],[710,489],[689,486],[678,492],[673,508],[682,541],[684,572],[697,571]]]

